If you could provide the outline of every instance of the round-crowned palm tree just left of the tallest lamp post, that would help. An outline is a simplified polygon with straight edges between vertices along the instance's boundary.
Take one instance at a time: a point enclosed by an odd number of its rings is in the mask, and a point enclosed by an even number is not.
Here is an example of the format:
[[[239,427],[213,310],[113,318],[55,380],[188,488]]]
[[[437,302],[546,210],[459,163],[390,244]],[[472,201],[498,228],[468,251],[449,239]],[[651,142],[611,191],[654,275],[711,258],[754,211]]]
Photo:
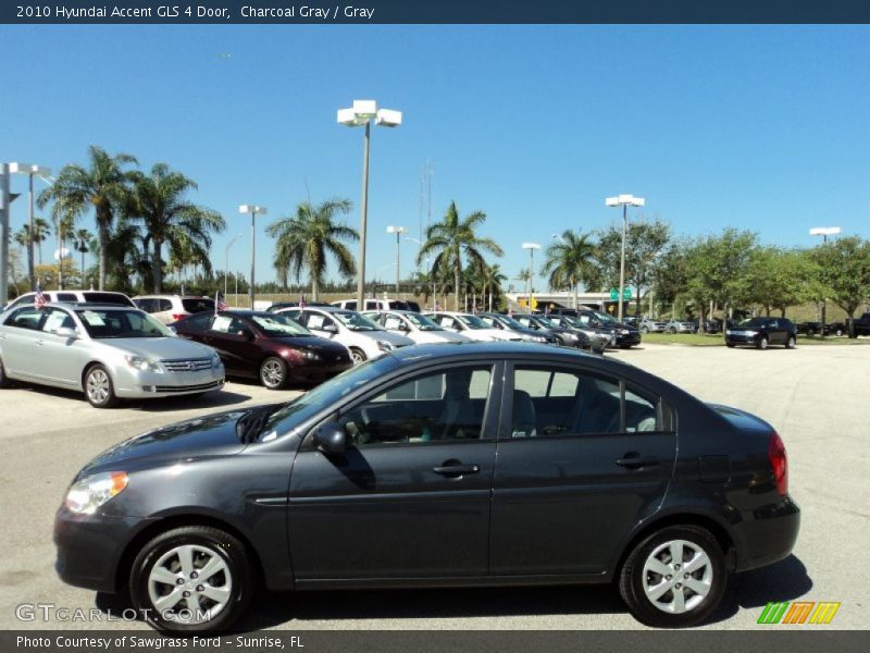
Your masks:
[[[266,233],[277,238],[273,263],[284,287],[290,274],[299,279],[307,269],[311,276],[311,299],[316,301],[326,273],[327,255],[336,260],[343,276],[356,274],[353,255],[341,241],[359,241],[359,234],[352,227],[334,222],[336,213],[348,213],[350,207],[347,199],[331,199],[316,207],[303,201],[296,207],[295,215],[266,227]]]

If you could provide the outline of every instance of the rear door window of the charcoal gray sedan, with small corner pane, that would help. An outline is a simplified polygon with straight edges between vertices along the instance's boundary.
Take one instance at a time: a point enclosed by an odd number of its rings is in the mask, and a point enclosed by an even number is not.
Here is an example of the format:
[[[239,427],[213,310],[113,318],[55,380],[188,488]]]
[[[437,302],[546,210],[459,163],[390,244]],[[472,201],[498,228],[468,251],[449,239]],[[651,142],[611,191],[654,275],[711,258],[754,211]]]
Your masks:
[[[657,430],[656,403],[616,379],[520,366],[513,373],[511,438]]]

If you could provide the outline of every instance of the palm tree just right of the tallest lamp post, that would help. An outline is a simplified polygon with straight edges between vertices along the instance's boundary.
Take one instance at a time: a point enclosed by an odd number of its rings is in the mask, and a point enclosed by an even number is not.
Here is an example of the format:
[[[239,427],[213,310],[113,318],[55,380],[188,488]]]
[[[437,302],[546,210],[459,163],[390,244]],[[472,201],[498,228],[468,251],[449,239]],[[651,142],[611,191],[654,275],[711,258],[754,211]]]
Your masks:
[[[474,227],[483,224],[486,213],[474,211],[464,219],[459,218],[456,202],[451,201],[440,222],[436,222],[426,230],[426,242],[420,248],[417,263],[423,260],[426,254],[437,251],[432,264],[433,270],[452,269],[453,291],[456,293],[456,310],[459,310],[459,278],[462,274],[462,259],[475,268],[486,264],[481,250],[496,256],[505,252],[492,238],[480,238],[474,234]]]

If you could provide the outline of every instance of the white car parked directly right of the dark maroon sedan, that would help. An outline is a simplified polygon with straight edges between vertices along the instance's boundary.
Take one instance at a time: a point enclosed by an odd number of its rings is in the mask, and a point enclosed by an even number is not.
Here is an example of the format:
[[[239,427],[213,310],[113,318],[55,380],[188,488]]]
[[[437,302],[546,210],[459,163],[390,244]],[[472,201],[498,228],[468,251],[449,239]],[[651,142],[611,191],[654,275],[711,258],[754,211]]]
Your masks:
[[[353,365],[414,344],[411,338],[390,333],[352,310],[318,306],[288,308],[275,312],[296,320],[314,335],[327,337],[345,345],[350,352]]]

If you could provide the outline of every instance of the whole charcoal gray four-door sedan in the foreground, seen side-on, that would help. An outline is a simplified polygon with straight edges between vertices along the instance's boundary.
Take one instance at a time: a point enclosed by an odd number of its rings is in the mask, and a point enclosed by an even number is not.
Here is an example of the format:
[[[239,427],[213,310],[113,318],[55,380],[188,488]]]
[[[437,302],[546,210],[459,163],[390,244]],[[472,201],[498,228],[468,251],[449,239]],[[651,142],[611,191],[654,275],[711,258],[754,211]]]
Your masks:
[[[533,344],[409,347],[289,404],[151,431],[60,507],[57,568],[162,630],[273,590],[616,580],[656,626],[782,559],[782,440],[631,366]]]

